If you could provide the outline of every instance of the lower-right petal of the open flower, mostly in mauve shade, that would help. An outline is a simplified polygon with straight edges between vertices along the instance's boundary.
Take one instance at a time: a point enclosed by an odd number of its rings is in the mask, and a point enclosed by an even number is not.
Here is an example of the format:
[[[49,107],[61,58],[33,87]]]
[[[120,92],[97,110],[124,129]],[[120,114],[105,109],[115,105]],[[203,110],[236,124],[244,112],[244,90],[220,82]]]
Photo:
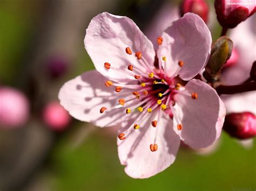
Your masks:
[[[226,109],[217,92],[200,80],[191,80],[186,91],[198,94],[197,100],[190,96],[176,94],[176,109],[183,129],[177,131],[180,138],[192,148],[205,148],[212,145],[220,136]]]

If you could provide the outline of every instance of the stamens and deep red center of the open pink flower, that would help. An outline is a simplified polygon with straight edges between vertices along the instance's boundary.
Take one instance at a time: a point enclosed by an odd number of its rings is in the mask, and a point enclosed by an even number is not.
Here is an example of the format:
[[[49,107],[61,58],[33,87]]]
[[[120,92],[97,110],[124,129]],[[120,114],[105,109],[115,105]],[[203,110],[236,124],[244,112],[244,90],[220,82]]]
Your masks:
[[[163,43],[163,38],[159,37],[157,42],[160,46]],[[143,128],[141,124],[143,124],[153,111],[155,114],[157,112],[156,119],[151,122],[152,127],[156,128],[153,144],[150,144],[150,150],[154,152],[158,149],[158,145],[156,144],[159,129],[158,124],[162,115],[169,115],[170,118],[174,118],[178,130],[183,128],[173,108],[176,104],[174,95],[183,94],[191,96],[193,99],[197,99],[198,95],[197,93],[188,93],[183,86],[185,84],[184,81],[178,77],[181,67],[184,66],[183,61],[178,61],[177,65],[179,65],[179,67],[177,71],[169,77],[166,72],[166,56],[161,57],[163,63],[159,61],[157,68],[146,61],[142,52],[133,53],[130,47],[126,47],[125,52],[131,56],[136,56],[139,62],[137,67],[130,64],[127,66],[126,70],[123,70],[111,66],[109,62],[105,62],[104,67],[107,70],[114,69],[124,75],[133,76],[134,81],[128,84],[119,84],[110,80],[106,81],[106,87],[115,86],[116,93],[123,97],[118,100],[119,105],[113,108],[102,107],[100,108],[100,113],[103,114],[103,112],[120,109],[121,107],[124,108],[126,113],[124,115],[131,115],[131,112],[138,112],[136,121],[130,124],[130,128],[118,135],[120,140],[124,140],[129,136],[129,132],[132,131],[132,129],[137,130]],[[140,68],[140,66],[142,66],[142,68]]]

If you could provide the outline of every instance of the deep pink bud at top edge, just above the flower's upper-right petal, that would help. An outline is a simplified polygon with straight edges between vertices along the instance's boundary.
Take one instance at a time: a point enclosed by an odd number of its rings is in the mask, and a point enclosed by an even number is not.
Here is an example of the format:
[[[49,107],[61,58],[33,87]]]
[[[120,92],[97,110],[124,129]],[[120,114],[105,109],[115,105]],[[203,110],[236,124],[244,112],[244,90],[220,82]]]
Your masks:
[[[180,6],[181,17],[187,12],[196,13],[205,23],[208,20],[208,5],[204,0],[184,0]]]

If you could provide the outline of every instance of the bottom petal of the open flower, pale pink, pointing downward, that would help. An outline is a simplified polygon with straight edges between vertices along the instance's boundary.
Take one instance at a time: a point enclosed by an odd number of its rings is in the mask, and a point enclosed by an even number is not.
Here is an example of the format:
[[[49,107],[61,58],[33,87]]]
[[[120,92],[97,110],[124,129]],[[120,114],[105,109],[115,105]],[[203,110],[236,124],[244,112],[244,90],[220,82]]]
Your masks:
[[[149,178],[164,171],[176,159],[180,138],[173,131],[173,123],[170,123],[164,117],[157,125],[157,128],[159,128],[156,141],[158,150],[156,152],[150,151],[150,144],[153,144],[157,130],[151,126],[151,122],[156,120],[156,114],[154,113],[150,114],[150,117],[140,125],[141,127],[138,130],[132,129],[126,139],[118,139],[120,162],[126,166],[125,172],[132,178]]]

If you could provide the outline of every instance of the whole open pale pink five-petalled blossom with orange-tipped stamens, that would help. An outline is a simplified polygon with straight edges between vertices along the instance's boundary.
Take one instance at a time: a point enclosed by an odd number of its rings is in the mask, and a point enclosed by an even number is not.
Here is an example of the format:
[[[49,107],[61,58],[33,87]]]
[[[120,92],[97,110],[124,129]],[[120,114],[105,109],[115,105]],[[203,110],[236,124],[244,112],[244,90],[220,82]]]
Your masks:
[[[153,44],[129,18],[104,12],[91,20],[85,49],[96,70],[64,84],[60,103],[97,126],[120,126],[125,172],[148,178],[176,159],[180,140],[193,148],[220,136],[225,107],[208,84],[193,79],[206,65],[211,34],[193,13],[174,21]]]

